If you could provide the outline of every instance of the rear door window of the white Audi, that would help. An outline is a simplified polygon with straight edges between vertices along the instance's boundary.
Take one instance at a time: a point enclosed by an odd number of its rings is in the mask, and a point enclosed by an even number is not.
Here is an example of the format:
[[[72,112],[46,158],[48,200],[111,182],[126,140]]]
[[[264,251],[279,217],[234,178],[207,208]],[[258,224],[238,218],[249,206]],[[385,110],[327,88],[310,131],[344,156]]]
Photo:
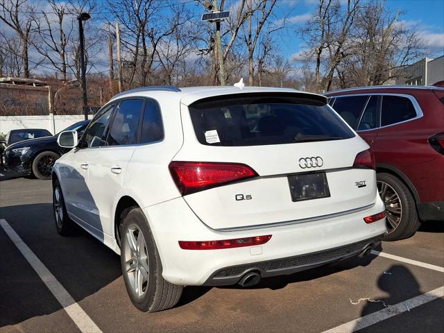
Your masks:
[[[124,99],[119,105],[108,134],[108,145],[137,144],[143,99]]]

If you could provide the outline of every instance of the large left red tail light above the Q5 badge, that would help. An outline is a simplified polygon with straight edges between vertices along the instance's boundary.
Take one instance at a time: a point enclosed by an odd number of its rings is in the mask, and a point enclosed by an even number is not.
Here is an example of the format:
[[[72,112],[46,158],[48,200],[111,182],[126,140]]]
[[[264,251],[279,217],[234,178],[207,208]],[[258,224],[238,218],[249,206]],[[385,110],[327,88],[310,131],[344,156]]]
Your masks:
[[[257,176],[248,165],[219,162],[173,161],[169,171],[182,196]]]

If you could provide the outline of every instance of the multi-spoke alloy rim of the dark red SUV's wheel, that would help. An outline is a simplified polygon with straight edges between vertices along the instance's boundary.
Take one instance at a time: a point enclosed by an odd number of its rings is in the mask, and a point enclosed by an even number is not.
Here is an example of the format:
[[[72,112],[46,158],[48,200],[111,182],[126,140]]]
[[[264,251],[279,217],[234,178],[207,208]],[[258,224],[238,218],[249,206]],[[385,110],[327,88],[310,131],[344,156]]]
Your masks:
[[[386,182],[378,180],[377,189],[384,205],[386,205],[386,227],[387,233],[390,234],[398,228],[398,225],[400,225],[402,218],[401,199],[395,189]]]

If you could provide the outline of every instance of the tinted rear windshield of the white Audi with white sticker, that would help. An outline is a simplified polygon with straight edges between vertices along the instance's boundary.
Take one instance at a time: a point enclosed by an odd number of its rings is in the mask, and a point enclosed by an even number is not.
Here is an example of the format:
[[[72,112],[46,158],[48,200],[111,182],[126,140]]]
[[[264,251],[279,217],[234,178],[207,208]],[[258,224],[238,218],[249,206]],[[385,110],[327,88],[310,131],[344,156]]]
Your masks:
[[[189,106],[196,136],[201,144],[211,146],[293,144],[355,137],[327,104],[289,95],[230,95],[197,101]]]

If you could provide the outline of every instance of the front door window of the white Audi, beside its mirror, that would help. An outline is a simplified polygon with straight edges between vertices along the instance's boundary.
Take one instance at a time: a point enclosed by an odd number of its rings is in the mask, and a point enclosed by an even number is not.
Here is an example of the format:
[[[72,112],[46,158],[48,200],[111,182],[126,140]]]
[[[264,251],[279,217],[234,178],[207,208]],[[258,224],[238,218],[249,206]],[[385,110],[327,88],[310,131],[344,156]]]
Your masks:
[[[83,135],[83,139],[80,142],[80,148],[105,146],[106,143],[103,135],[105,135],[106,127],[110,122],[112,110],[114,110],[114,103],[103,108],[103,110],[94,117]]]

